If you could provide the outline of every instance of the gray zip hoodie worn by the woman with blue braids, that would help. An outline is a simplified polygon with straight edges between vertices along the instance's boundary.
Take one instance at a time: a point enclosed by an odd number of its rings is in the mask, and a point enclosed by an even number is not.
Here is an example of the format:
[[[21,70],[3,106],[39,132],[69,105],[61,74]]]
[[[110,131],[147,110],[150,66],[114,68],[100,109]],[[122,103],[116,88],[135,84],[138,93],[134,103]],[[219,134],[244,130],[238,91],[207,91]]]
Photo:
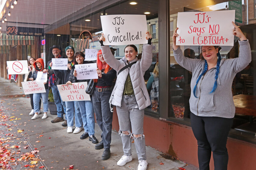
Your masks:
[[[231,86],[236,73],[243,70],[251,62],[251,48],[249,41],[239,40],[239,57],[222,59],[220,61],[220,72],[217,79],[217,88],[213,93],[216,67],[208,70],[201,77],[196,88],[196,98],[193,94],[196,81],[204,70],[204,60],[184,57],[180,47],[173,50],[175,60],[185,69],[192,72],[191,95],[189,99],[190,111],[198,116],[216,116],[222,118],[233,118],[235,105],[233,101]]]

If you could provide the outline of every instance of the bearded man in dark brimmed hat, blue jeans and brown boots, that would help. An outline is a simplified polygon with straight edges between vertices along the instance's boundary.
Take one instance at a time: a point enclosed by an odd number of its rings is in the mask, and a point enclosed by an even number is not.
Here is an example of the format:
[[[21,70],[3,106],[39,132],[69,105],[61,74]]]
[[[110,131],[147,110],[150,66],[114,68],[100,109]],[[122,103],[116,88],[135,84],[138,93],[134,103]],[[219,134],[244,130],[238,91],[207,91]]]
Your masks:
[[[54,45],[50,48],[50,50],[52,50],[52,54],[54,55],[55,58],[64,58],[60,54],[60,52],[61,52],[60,47]],[[64,121],[63,114],[64,114],[64,112],[66,112],[66,105],[65,105],[65,102],[63,102],[61,100],[60,93],[57,88],[57,85],[61,84],[60,83],[61,79],[59,79],[57,76],[55,76],[54,70],[51,69],[52,60],[48,61],[47,67],[48,67],[47,69],[45,68],[43,70],[43,73],[49,74],[49,84],[48,85],[49,85],[49,87],[52,88],[53,98],[54,98],[55,104],[57,106],[57,118],[53,119],[51,122],[57,123],[60,121]],[[64,110],[62,109],[62,107],[64,108]]]

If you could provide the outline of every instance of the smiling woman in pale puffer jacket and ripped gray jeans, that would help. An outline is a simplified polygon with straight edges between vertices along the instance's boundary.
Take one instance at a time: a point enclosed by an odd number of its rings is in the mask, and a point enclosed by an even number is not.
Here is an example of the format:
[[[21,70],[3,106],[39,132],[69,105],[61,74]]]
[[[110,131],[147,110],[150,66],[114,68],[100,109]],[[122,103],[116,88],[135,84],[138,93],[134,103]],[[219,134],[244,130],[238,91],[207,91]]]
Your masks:
[[[117,60],[112,55],[109,46],[104,46],[104,34],[100,37],[103,57],[110,67],[117,71],[117,81],[111,94],[109,103],[117,108],[119,134],[123,143],[123,156],[117,162],[123,166],[133,160],[131,152],[131,138],[134,139],[139,160],[138,170],[147,169],[145,136],[143,134],[144,108],[150,105],[148,91],[144,81],[144,73],[152,63],[151,35],[146,33],[148,44],[143,45],[142,59],[138,60],[138,49],[135,45],[127,45],[125,56]],[[128,68],[120,70],[126,65]],[[131,133],[132,132],[132,133]]]

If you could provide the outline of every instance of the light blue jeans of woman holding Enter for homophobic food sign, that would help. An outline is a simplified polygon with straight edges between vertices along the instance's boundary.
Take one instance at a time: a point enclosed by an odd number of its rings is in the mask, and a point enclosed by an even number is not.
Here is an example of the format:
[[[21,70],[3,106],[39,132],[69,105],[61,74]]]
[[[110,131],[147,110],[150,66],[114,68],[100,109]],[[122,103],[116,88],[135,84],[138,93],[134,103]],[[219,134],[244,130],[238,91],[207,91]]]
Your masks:
[[[95,127],[95,120],[94,120],[94,110],[92,101],[77,101],[82,120],[83,120],[83,128],[84,132],[88,132],[89,136],[94,135],[94,127]]]

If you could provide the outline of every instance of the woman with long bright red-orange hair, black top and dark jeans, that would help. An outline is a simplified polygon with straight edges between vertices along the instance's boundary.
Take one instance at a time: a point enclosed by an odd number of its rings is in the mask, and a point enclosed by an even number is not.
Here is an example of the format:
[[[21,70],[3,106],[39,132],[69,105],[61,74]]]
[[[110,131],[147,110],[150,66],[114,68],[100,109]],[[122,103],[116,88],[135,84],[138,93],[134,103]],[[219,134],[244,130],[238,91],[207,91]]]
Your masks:
[[[94,92],[92,94],[93,108],[96,121],[101,128],[101,142],[95,145],[95,149],[104,148],[101,159],[107,160],[110,157],[110,143],[113,114],[110,111],[109,99],[112,93],[112,82],[116,71],[104,60],[101,50],[97,53],[98,79],[94,79]]]

